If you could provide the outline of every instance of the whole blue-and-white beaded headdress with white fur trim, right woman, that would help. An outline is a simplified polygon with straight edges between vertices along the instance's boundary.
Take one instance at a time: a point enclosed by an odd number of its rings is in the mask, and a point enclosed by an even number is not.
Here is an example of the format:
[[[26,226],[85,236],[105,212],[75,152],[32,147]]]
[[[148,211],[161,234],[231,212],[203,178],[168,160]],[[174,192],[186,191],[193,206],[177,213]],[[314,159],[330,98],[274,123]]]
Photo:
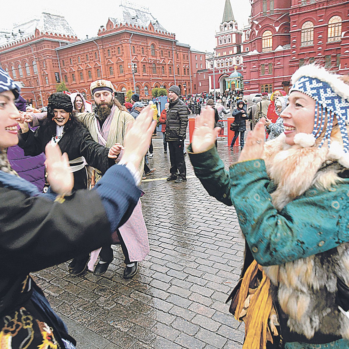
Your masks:
[[[349,153],[347,125],[349,124],[349,86],[338,78],[340,75],[331,74],[325,68],[307,65],[299,68],[291,78],[292,91],[303,92],[315,100],[315,120],[312,135],[317,139],[325,129],[319,148],[328,141],[331,143],[331,132],[334,116],[343,140],[344,153]],[[327,123],[325,126],[327,113]]]

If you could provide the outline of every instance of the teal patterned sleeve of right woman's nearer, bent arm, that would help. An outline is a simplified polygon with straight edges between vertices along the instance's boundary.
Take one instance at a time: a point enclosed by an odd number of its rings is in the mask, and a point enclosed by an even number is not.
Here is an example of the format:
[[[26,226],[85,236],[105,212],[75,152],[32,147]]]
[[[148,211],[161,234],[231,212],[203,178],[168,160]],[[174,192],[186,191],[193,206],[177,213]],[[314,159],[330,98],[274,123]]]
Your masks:
[[[281,211],[272,204],[269,181],[263,160],[230,168],[230,198],[258,263],[279,265],[349,241],[348,180],[329,191],[311,187]]]

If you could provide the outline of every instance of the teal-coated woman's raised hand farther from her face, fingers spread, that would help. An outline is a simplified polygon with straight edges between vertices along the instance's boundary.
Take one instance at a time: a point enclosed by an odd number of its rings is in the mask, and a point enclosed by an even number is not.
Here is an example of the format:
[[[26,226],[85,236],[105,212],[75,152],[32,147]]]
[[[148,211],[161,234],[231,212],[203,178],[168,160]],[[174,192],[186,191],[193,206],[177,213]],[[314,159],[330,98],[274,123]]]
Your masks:
[[[218,136],[220,127],[214,128],[215,112],[207,106],[202,109],[200,116],[195,119],[195,128],[192,136],[192,149],[194,153],[203,153],[211,149]]]

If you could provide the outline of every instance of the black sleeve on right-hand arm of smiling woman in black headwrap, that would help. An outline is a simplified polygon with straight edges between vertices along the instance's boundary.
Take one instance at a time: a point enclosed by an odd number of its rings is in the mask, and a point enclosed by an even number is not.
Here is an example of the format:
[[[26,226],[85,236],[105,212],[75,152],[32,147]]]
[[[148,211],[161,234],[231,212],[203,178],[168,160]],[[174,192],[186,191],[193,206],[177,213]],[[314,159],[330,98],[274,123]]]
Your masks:
[[[79,132],[81,135],[81,155],[86,159],[86,162],[90,166],[104,174],[110,166],[115,164],[115,159],[110,159],[108,157],[109,148],[105,148],[101,144],[95,142],[88,129],[83,125],[79,126]]]

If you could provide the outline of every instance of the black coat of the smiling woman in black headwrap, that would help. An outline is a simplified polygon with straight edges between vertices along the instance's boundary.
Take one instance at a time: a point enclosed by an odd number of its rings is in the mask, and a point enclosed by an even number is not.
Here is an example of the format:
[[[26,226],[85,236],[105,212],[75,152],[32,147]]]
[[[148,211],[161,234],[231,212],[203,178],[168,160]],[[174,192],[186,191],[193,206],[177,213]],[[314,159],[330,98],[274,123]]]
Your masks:
[[[102,174],[113,164],[114,159],[108,158],[109,149],[96,143],[88,129],[75,120],[74,128],[70,128],[59,141],[62,153],[67,153],[69,161],[83,156],[86,162],[101,171]],[[51,141],[52,134],[45,132],[45,125],[38,127],[35,132],[18,132],[18,145],[24,150],[25,155],[35,156],[45,150],[46,144]],[[79,163],[74,164],[79,165]],[[86,169],[73,172],[74,189],[87,188]]]

